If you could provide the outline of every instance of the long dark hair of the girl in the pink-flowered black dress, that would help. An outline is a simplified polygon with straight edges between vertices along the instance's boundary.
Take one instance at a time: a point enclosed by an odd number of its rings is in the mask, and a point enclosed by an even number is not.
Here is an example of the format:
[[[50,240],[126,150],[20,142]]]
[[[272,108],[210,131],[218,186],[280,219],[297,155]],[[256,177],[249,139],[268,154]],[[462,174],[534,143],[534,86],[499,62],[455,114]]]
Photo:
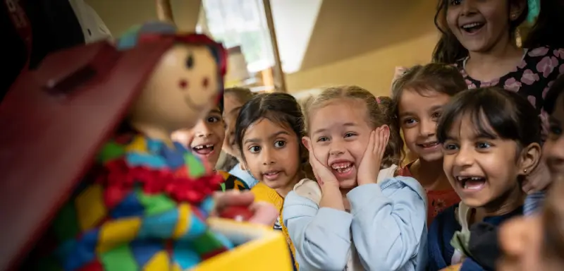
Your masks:
[[[462,46],[462,44],[455,37],[453,32],[448,29],[446,25],[446,11],[448,9],[448,3],[451,0],[439,0],[436,7],[435,13],[435,26],[441,32],[441,39],[437,42],[435,49],[433,51],[433,62],[454,64],[459,59],[463,59],[468,56],[468,50]],[[527,0],[507,0],[508,8],[517,1]],[[543,0],[546,1],[546,0]],[[519,17],[515,20],[510,20],[509,22],[509,32],[512,40],[515,40],[515,33],[517,32],[517,27],[521,25],[527,19],[527,14],[529,13],[529,6],[525,4],[525,8],[520,13]],[[509,15],[509,10],[508,10]],[[509,18],[509,16],[508,16]]]

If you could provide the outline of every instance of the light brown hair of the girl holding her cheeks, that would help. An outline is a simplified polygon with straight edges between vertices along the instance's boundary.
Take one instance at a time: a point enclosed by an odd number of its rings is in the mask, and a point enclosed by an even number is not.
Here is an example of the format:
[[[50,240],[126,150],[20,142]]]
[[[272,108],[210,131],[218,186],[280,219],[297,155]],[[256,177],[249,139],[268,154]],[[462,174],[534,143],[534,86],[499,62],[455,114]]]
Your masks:
[[[384,107],[378,103],[378,100],[372,93],[364,88],[356,85],[345,85],[340,87],[327,88],[316,97],[307,100],[305,104],[305,134],[309,133],[309,116],[315,109],[324,107],[324,105],[333,100],[360,100],[366,104],[367,120],[372,128],[382,126],[384,124],[390,126],[390,140],[386,146],[384,159],[382,160],[382,168],[390,167],[392,164],[399,165],[403,154],[403,140],[400,137],[400,131],[397,124],[391,124],[389,116],[384,112]],[[388,109],[386,109],[387,111]]]

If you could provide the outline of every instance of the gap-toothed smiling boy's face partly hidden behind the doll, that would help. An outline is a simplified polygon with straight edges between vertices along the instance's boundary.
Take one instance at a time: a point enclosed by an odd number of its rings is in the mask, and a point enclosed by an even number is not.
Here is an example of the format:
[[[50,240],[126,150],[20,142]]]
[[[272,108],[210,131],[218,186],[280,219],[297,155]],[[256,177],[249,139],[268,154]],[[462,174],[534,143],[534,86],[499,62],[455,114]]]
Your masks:
[[[225,137],[225,124],[216,107],[188,131],[178,131],[173,139],[190,148],[192,153],[215,166]]]

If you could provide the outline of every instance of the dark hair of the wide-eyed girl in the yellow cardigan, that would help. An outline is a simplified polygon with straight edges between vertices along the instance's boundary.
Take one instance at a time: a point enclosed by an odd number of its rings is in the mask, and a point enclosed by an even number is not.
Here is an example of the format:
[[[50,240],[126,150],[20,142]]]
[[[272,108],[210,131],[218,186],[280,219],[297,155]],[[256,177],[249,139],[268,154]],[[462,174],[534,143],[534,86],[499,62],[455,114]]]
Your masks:
[[[300,143],[304,136],[304,118],[300,104],[292,95],[281,92],[255,95],[241,107],[235,123],[235,143],[239,147],[243,162],[245,162],[243,137],[247,128],[261,119],[268,119],[294,131],[300,145],[300,163],[307,162],[307,150]]]

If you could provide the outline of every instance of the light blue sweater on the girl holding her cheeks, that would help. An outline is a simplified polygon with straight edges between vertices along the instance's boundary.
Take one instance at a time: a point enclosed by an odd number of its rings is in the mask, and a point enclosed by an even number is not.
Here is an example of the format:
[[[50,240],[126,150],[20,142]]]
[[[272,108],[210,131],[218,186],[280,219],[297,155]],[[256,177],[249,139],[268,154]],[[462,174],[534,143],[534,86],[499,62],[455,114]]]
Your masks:
[[[365,184],[347,194],[350,213],[327,207],[294,191],[284,201],[283,219],[300,270],[342,271],[351,240],[365,270],[424,270],[427,261],[427,199],[411,177]]]

